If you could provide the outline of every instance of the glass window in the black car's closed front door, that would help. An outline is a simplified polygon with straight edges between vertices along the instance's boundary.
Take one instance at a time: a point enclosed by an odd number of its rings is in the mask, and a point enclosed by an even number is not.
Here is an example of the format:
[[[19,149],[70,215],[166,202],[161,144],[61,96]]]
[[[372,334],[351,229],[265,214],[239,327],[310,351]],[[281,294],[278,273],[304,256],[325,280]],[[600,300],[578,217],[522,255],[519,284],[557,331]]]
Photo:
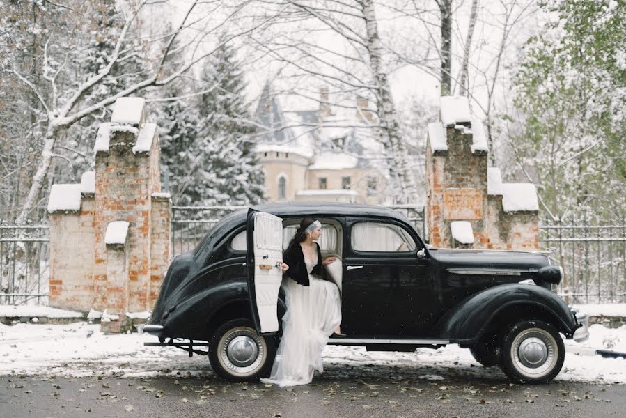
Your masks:
[[[398,225],[382,222],[359,222],[352,226],[350,242],[354,251],[410,252],[415,241]]]

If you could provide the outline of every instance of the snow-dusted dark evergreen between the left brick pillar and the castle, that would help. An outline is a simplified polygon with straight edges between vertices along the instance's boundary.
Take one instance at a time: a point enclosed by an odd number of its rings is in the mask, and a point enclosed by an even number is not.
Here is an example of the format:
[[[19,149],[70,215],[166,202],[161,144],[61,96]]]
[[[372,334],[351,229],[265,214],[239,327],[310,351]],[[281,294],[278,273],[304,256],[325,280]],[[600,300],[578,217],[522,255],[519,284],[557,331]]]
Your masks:
[[[237,66],[233,52],[221,47],[203,68],[199,89],[208,92],[168,102],[160,112],[162,162],[178,205],[251,205],[263,198]],[[173,97],[187,93],[180,84],[169,91]]]

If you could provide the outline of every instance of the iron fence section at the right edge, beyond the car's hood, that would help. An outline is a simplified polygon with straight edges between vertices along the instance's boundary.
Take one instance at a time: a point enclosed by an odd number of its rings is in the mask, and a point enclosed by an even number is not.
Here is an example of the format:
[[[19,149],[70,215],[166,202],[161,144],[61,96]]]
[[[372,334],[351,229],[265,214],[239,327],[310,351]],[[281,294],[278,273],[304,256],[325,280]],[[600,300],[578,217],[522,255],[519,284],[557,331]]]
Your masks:
[[[540,247],[563,267],[558,293],[566,302],[626,302],[625,222],[543,224]]]

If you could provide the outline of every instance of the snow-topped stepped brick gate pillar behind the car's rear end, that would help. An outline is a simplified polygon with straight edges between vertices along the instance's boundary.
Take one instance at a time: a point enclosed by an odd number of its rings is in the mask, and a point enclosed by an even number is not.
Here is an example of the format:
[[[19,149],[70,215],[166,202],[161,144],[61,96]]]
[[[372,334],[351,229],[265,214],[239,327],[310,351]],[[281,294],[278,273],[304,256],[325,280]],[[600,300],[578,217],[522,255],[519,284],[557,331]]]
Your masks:
[[[49,206],[50,306],[107,309],[124,320],[126,311],[149,311],[155,303],[169,265],[171,199],[160,193],[156,130],[143,123],[143,104],[140,110],[137,123],[100,127],[93,192],[82,194],[80,210]],[[122,246],[105,242],[114,221],[129,223]]]

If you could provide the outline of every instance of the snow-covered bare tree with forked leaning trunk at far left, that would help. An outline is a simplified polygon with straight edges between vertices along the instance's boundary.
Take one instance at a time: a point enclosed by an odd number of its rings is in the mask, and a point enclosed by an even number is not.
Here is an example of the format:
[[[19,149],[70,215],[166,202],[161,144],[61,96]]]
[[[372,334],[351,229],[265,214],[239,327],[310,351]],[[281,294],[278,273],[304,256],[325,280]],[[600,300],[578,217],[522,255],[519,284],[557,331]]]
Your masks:
[[[22,72],[19,62],[14,56],[8,56],[8,59],[3,60],[4,72],[21,82],[36,98],[38,107],[41,109],[37,113],[40,114],[45,126],[42,133],[42,148],[36,162],[36,171],[26,199],[22,203],[22,210],[17,216],[18,224],[26,221],[29,213],[38,203],[38,197],[45,185],[45,178],[51,167],[52,159],[56,155],[55,148],[58,138],[69,127],[86,116],[102,111],[118,98],[145,91],[148,87],[165,86],[174,79],[183,77],[194,68],[194,65],[213,54],[222,43],[251,33],[268,22],[267,20],[244,22],[242,17],[247,16],[244,15],[243,10],[253,3],[251,0],[233,1],[228,4],[220,1],[195,0],[187,8],[181,22],[173,30],[168,33],[161,33],[151,39],[140,39],[141,42],[139,43],[148,44],[144,46],[144,53],[149,51],[150,54],[153,54],[153,65],[150,68],[141,70],[139,74],[134,75],[134,80],[130,83],[117,84],[110,95],[104,98],[95,96],[94,99],[91,93],[97,91],[105,83],[111,82],[110,76],[114,67],[122,65],[125,61],[136,57],[137,54],[141,54],[140,51],[132,47],[132,42],[138,40],[136,38],[138,34],[134,32],[134,28],[140,24],[142,13],[146,13],[148,8],[155,3],[162,2],[142,0],[132,6],[126,13],[121,31],[117,39],[114,40],[111,53],[106,57],[101,68],[98,68],[96,72],[75,88],[66,89],[60,82],[62,77],[71,77],[71,75],[64,73],[67,66],[67,53],[52,56],[50,51],[45,49],[41,58],[44,70],[43,79],[45,80],[45,84],[42,85],[33,81],[31,75]],[[222,36],[224,27],[230,22],[235,22],[235,20],[237,22],[230,26],[227,36]],[[107,36],[107,34],[102,34],[102,36]],[[171,54],[180,53],[179,50],[174,50],[172,46],[173,42],[181,37],[186,37],[185,42],[182,42],[187,51],[186,58],[180,67],[174,68],[168,63],[167,58]],[[214,41],[213,44],[208,48],[204,47],[203,45],[206,45],[208,38],[211,37]],[[49,45],[51,41],[54,42],[54,40],[48,39],[45,45]],[[63,55],[65,55],[65,59]]]

